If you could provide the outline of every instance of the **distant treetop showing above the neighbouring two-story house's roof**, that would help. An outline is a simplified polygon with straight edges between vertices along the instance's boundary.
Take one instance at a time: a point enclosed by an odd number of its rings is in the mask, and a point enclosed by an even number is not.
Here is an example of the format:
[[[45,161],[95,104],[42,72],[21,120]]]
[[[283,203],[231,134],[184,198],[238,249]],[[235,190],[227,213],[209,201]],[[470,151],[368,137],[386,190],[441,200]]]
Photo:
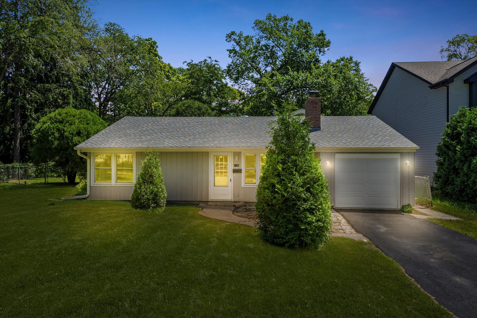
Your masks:
[[[443,60],[467,60],[477,55],[477,35],[470,36],[467,33],[457,34],[447,40],[447,47],[441,46],[441,58]]]

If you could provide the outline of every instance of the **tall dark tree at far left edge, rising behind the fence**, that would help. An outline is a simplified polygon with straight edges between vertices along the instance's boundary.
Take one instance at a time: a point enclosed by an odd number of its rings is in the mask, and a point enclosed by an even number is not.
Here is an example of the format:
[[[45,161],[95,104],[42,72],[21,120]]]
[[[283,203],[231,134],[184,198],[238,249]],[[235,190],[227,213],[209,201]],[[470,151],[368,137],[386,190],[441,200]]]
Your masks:
[[[95,25],[86,0],[0,0],[0,7],[1,151],[18,162],[39,117],[84,97],[75,60]]]

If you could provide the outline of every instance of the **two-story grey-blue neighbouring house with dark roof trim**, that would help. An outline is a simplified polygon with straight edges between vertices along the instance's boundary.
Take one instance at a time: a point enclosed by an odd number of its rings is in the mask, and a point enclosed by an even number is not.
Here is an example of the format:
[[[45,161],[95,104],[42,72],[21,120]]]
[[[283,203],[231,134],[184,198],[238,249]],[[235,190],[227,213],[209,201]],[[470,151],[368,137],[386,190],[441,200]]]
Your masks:
[[[459,107],[477,105],[477,57],[391,64],[368,110],[419,146],[415,173],[433,177],[441,133]]]

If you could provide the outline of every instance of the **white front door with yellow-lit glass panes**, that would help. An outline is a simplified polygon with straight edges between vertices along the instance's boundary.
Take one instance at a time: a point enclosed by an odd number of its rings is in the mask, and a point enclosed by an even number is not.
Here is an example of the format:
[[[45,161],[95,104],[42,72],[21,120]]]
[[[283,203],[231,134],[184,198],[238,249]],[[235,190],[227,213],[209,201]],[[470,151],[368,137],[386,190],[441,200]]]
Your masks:
[[[210,153],[210,199],[232,199],[232,153]]]

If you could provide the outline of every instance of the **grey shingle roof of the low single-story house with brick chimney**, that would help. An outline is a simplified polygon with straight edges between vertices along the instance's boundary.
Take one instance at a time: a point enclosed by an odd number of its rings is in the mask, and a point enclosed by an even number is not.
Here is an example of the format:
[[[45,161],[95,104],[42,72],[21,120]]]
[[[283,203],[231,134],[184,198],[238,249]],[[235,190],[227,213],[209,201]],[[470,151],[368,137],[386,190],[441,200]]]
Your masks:
[[[276,117],[124,117],[75,149],[264,148]],[[410,148],[414,143],[375,116],[321,116],[317,148]]]

